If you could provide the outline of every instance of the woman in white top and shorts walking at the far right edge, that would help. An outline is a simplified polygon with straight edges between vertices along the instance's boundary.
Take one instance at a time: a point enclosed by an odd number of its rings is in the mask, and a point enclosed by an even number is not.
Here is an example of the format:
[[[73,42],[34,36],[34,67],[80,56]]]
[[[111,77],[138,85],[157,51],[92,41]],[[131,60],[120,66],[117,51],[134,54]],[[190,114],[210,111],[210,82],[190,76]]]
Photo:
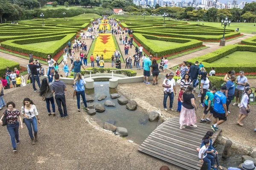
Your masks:
[[[239,116],[238,116],[238,121],[237,124],[239,126],[244,126],[244,124],[242,124],[242,120],[244,120],[244,118],[246,118],[248,116],[248,114],[250,113],[250,94],[252,93],[252,89],[251,88],[246,88],[246,91],[244,92],[242,99],[241,99],[241,103],[240,103],[240,111],[239,111]]]

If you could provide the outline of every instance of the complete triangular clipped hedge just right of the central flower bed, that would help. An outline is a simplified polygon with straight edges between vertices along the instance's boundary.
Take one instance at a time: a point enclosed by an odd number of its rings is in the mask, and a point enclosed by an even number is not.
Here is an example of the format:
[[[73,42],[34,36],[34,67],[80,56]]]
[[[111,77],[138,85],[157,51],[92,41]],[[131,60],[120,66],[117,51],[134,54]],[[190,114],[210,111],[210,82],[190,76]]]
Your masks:
[[[141,45],[152,55],[157,53],[157,57],[166,56],[169,54],[177,53],[189,48],[195,48],[203,45],[203,42],[198,40],[189,40],[181,38],[169,38],[169,37],[157,37],[146,34],[133,34],[134,38],[140,42]],[[151,43],[150,40],[160,40],[160,41],[169,41],[169,42],[179,42],[182,44],[172,45],[169,47],[160,48],[154,43]]]

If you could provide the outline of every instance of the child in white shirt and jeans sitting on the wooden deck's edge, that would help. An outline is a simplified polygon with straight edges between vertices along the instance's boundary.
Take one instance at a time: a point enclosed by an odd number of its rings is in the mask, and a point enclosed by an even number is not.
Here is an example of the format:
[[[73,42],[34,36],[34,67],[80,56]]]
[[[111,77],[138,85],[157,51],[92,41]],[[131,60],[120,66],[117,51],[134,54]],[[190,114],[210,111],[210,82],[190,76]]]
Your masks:
[[[201,147],[201,149],[199,150],[199,154],[198,154],[198,157],[200,159],[199,162],[201,163],[201,162],[205,161],[207,163],[207,170],[216,170],[216,168],[214,167],[213,156],[207,155],[207,153],[212,153],[212,151],[207,151],[208,147],[210,145],[209,139],[204,139],[203,143],[204,143],[204,146]]]

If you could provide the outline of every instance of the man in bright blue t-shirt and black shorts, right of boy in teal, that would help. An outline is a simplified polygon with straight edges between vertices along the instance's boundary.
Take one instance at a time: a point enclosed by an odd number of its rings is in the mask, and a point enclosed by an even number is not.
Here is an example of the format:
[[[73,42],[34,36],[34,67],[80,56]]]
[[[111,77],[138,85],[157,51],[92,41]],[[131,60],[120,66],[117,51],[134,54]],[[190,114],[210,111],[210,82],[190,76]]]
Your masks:
[[[213,105],[213,125],[212,130],[216,132],[218,130],[218,125],[227,121],[227,106],[226,106],[226,96],[225,91],[227,87],[225,85],[221,86],[221,90],[214,94],[214,105]]]

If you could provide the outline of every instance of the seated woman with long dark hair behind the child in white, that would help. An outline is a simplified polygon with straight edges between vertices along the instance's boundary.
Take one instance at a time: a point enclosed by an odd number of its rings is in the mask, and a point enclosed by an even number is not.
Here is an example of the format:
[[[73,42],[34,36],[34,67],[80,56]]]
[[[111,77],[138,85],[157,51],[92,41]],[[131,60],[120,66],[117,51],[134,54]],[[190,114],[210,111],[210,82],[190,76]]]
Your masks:
[[[212,132],[212,131],[207,131],[207,133],[205,134],[204,138],[202,139],[201,147],[204,146],[204,139],[209,139],[210,145],[209,145],[207,151],[209,151],[210,153],[208,152],[208,153],[207,153],[207,156],[213,156],[214,161],[215,161],[215,166],[214,166],[214,167],[216,168],[216,167],[218,166],[218,168],[222,170],[220,161],[219,161],[219,159],[218,159],[218,152],[217,152],[217,151],[215,150],[215,148],[212,146],[212,138],[213,138],[213,132]],[[200,148],[201,148],[201,147],[200,147]],[[207,158],[208,158],[208,157],[207,157]],[[216,164],[217,164],[217,166],[216,166]]]

